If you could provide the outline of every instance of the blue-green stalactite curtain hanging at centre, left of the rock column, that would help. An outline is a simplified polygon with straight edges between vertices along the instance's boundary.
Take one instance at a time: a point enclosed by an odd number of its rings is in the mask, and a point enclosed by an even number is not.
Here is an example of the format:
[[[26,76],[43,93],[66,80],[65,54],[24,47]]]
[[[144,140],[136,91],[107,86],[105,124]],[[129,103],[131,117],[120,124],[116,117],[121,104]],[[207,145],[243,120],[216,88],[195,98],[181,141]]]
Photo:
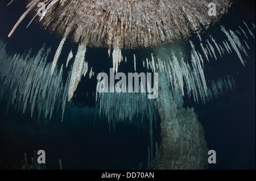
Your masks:
[[[96,102],[97,107],[100,109],[100,115],[108,117],[109,123],[126,119],[132,121],[134,117],[139,115],[142,117],[142,121],[143,118],[156,121],[155,102],[154,100],[147,99],[146,92],[99,93],[96,91]]]

